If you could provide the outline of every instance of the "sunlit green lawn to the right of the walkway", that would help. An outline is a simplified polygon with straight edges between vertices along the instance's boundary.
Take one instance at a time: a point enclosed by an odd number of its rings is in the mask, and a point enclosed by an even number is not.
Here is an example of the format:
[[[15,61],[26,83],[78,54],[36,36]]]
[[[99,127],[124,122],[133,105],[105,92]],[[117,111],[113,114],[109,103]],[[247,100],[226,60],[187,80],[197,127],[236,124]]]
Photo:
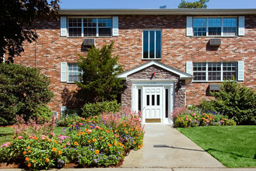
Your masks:
[[[256,126],[177,128],[230,168],[256,167]]]

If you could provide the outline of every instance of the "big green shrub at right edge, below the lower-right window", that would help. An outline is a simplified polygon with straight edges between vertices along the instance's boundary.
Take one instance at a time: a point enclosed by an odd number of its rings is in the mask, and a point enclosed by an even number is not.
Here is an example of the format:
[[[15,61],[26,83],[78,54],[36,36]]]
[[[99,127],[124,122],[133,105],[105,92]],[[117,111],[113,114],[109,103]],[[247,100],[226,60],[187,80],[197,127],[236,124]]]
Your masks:
[[[227,114],[237,124],[256,124],[256,94],[234,79],[223,82],[211,104],[219,113]]]

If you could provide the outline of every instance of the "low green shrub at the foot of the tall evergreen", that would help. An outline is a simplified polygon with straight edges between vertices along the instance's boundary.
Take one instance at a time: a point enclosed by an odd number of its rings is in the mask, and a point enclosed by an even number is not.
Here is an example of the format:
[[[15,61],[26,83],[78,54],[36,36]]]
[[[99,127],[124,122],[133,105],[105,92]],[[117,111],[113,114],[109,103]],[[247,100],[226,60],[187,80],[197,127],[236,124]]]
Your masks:
[[[120,111],[121,104],[117,103],[117,100],[114,101],[104,101],[96,103],[86,103],[82,107],[82,117],[92,117],[100,115],[103,112],[112,112],[117,113]]]

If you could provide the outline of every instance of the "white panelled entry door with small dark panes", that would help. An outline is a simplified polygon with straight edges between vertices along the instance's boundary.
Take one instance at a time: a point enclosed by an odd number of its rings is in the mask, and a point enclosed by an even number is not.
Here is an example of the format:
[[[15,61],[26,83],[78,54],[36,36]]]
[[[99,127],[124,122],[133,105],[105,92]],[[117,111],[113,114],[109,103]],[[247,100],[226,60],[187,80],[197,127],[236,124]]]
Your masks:
[[[143,89],[142,114],[143,121],[162,122],[163,116],[163,87],[144,86]]]

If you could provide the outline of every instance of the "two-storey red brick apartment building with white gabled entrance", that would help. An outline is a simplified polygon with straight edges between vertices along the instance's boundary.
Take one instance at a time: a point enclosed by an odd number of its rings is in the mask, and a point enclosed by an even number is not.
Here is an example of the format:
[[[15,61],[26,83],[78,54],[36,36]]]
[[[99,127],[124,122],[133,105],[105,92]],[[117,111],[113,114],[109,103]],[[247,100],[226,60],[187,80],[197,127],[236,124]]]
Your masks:
[[[61,114],[78,80],[78,54],[114,41],[124,72],[121,103],[142,120],[168,122],[176,106],[209,99],[232,75],[256,89],[256,9],[63,9],[35,23],[39,39],[16,64],[51,79],[51,109]]]

